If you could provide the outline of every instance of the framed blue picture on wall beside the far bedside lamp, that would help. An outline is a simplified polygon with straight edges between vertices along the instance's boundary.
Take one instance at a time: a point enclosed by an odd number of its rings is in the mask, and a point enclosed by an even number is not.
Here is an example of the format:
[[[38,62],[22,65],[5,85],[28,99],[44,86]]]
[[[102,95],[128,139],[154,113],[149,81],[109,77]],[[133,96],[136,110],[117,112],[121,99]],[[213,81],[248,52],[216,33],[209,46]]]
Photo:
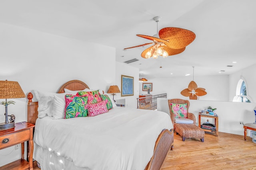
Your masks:
[[[121,75],[121,96],[133,96],[133,77]]]

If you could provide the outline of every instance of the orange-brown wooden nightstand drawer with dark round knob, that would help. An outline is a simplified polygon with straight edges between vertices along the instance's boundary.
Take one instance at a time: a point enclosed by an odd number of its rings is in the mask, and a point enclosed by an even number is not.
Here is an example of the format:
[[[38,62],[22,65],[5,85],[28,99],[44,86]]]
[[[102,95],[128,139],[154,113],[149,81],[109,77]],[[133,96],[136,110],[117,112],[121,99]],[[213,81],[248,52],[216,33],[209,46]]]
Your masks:
[[[30,139],[30,130],[20,131],[18,133],[12,133],[0,137],[0,149],[28,141]]]

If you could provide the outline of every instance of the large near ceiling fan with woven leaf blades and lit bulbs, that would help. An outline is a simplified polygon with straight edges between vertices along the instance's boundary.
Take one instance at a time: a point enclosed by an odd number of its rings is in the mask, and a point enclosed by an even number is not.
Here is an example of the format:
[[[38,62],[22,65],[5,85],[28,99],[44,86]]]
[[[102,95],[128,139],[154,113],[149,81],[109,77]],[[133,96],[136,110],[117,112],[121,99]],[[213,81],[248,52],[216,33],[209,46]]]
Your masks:
[[[153,20],[156,21],[156,23],[158,24],[158,21],[160,21],[160,18],[161,17],[157,16],[157,17],[154,17]],[[158,25],[157,25],[157,32],[158,32]],[[149,59],[150,57],[157,59],[158,56],[163,56],[165,58],[170,55],[176,55],[176,54],[182,53],[185,50],[186,46],[192,43],[192,41],[194,41],[194,39],[196,38],[196,34],[193,33],[192,31],[189,31],[187,29],[182,29],[182,28],[176,28],[176,27],[162,28],[160,29],[158,34],[153,36],[140,35],[140,34],[137,34],[137,36],[152,40],[153,42],[145,43],[142,45],[136,45],[134,47],[128,47],[125,49],[141,47],[141,46],[145,46],[153,43],[154,45],[147,48],[141,53],[141,57],[143,57],[144,59]]]

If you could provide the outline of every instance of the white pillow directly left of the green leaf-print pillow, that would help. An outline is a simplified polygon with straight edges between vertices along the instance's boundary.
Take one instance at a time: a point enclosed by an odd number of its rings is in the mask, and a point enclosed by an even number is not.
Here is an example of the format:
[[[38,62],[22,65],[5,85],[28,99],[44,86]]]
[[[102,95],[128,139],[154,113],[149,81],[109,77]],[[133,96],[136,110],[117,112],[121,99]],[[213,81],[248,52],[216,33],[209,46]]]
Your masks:
[[[53,98],[53,119],[64,119],[65,118],[65,98],[60,98],[54,95]]]

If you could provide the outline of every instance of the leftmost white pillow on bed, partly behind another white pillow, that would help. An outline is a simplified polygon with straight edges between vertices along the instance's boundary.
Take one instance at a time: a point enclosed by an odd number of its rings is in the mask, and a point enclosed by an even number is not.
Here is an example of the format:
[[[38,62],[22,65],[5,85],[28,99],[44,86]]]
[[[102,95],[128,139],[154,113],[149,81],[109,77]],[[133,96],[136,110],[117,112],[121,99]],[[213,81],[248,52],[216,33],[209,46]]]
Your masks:
[[[38,100],[38,117],[53,116],[53,98],[54,95],[64,98],[66,93],[40,92],[34,90],[36,99]]]

